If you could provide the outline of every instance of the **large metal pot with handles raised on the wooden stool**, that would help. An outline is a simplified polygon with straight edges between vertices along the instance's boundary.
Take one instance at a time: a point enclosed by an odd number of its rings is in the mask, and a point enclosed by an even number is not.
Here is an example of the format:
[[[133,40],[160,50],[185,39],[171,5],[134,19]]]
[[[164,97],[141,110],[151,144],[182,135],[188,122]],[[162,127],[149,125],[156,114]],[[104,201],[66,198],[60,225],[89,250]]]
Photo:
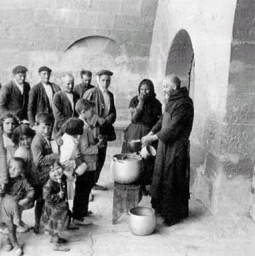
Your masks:
[[[140,177],[142,157],[132,154],[114,155],[111,165],[113,180],[122,184],[130,184]]]

